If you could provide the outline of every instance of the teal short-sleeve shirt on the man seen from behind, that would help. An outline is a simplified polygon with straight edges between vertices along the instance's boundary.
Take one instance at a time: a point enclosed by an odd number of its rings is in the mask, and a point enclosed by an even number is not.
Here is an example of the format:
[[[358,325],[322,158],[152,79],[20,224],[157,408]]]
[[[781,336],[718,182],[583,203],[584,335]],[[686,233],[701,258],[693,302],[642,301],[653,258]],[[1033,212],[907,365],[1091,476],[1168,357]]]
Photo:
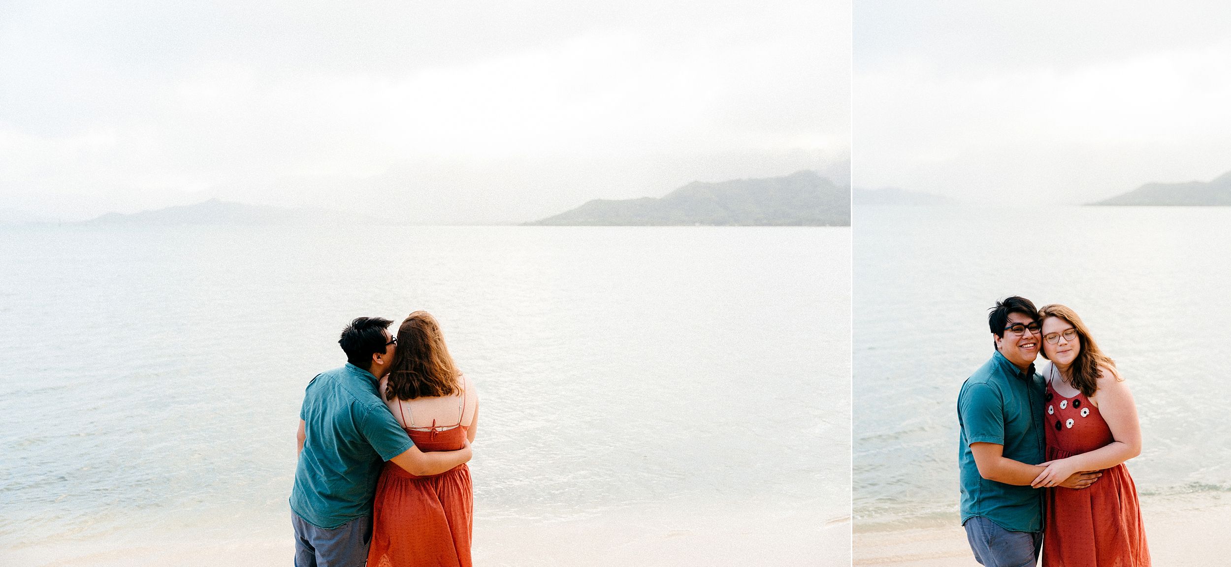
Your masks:
[[[318,374],[304,391],[305,439],[291,509],[311,525],[334,529],[369,515],[384,461],[415,445],[377,384],[372,373],[347,363]]]

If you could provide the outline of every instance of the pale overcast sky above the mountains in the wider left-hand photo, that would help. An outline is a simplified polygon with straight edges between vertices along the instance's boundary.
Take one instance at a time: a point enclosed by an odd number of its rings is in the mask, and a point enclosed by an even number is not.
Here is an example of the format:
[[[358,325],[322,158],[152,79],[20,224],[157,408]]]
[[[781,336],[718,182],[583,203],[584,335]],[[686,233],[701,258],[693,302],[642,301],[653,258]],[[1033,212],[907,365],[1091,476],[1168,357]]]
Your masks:
[[[841,0],[6,1],[0,209],[533,220],[846,159],[849,64]]]

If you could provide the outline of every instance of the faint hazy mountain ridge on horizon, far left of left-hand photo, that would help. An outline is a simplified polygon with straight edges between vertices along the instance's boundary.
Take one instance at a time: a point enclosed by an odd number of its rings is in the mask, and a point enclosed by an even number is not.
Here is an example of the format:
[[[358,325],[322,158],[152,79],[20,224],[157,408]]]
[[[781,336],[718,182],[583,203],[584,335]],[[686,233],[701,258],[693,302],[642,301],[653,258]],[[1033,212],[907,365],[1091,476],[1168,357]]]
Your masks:
[[[395,220],[318,209],[234,203],[209,199],[156,210],[107,213],[82,221],[87,225],[314,225],[314,224],[403,224]]]

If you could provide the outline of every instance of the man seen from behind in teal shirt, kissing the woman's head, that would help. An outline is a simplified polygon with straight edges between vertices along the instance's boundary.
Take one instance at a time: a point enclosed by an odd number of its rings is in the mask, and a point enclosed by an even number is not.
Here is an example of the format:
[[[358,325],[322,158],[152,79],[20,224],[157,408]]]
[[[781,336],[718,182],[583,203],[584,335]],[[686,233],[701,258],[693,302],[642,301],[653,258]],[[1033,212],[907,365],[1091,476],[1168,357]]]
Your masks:
[[[346,365],[316,375],[299,410],[299,464],[291,490],[295,567],[363,567],[372,540],[372,501],[383,461],[412,475],[438,475],[470,460],[420,451],[380,401],[379,378],[398,341],[388,319],[351,321],[339,343]]]

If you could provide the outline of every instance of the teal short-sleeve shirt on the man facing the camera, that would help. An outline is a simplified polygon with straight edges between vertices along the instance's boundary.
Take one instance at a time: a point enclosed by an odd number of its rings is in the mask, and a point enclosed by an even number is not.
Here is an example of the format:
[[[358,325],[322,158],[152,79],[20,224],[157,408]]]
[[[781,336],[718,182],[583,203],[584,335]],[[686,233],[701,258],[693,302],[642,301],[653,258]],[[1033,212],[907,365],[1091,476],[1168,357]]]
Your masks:
[[[1032,364],[1022,371],[996,352],[958,394],[961,523],[981,515],[1009,531],[1043,530],[1043,491],[990,481],[979,474],[971,443],[1004,446],[1004,458],[1028,465],[1045,460],[1043,396],[1046,383]]]

